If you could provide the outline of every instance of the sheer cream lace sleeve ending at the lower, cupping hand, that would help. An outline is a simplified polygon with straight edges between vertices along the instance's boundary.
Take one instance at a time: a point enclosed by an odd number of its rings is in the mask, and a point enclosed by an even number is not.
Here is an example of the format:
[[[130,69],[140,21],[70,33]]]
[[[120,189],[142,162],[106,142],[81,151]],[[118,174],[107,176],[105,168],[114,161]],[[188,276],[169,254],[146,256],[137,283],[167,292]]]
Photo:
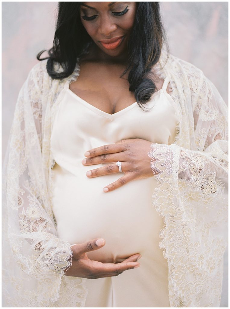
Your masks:
[[[25,307],[49,307],[57,300],[61,277],[71,266],[73,254],[71,245],[57,237],[50,211],[48,167],[42,155],[44,74],[36,65],[19,92],[3,176],[3,213],[8,217],[4,242],[6,247],[10,244],[14,257],[11,259],[6,248],[4,267],[7,279],[15,284],[15,299],[21,294],[22,301],[22,294],[26,295]],[[22,288],[22,281],[27,282],[26,288]],[[7,297],[13,298],[7,284],[5,290]]]

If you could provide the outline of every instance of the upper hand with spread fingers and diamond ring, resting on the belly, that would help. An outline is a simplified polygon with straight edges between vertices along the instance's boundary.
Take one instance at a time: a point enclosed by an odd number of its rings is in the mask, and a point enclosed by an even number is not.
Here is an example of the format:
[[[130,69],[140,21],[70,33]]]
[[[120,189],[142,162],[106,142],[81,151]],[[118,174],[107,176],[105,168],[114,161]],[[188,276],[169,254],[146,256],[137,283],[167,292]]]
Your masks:
[[[113,191],[127,182],[136,179],[152,177],[153,171],[150,168],[151,158],[148,151],[151,150],[152,142],[140,138],[122,139],[115,144],[103,145],[86,151],[87,159],[82,164],[94,165],[108,163],[108,165],[87,171],[86,176],[94,178],[111,173],[119,173],[117,161],[121,162],[122,172],[125,174],[112,184],[107,185],[104,192]],[[115,162],[115,163],[114,163]]]

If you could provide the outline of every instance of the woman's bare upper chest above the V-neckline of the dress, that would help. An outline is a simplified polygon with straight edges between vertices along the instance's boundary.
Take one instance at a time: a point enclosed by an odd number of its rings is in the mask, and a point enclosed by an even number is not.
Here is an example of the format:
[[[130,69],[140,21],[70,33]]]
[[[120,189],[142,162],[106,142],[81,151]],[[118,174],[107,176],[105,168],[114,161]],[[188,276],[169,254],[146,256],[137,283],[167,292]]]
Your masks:
[[[129,91],[128,74],[121,77],[124,66],[83,62],[80,68],[69,89],[89,104],[112,115],[136,102]]]

